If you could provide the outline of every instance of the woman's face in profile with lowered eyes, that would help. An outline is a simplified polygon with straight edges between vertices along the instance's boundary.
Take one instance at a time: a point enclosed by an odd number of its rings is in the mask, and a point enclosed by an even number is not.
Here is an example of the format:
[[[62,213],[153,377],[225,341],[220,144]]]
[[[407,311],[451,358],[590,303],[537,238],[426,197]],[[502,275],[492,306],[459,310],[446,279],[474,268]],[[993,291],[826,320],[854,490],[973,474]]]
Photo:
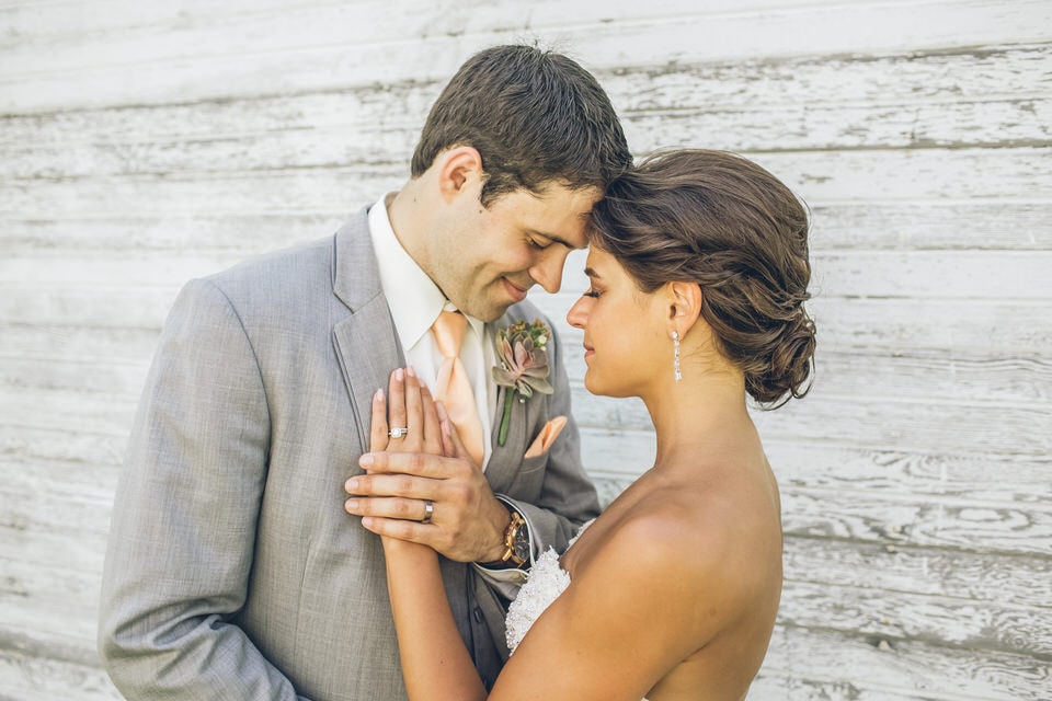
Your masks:
[[[661,372],[672,375],[668,320],[658,295],[641,291],[617,258],[593,246],[591,286],[567,313],[584,331],[584,386],[594,394],[643,397]]]

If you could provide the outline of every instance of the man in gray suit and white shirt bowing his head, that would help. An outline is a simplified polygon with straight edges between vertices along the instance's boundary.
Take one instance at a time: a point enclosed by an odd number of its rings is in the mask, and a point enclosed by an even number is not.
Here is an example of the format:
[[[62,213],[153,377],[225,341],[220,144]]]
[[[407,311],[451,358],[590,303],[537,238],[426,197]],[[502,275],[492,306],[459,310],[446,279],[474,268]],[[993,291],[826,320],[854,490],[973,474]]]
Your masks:
[[[184,288],[132,433],[103,576],[100,651],[127,698],[404,698],[379,538],[344,512],[344,484],[362,474],[370,401],[391,370],[437,377],[443,310],[468,321],[459,358],[480,458],[419,457],[395,482],[362,478],[355,498],[446,556],[460,634],[492,682],[502,604],[522,578],[508,565],[564,548],[598,510],[572,422],[531,447],[569,416],[558,340],[553,393],[515,402],[501,445],[493,336],[538,317],[527,289],[559,289],[593,203],[630,162],[591,74],[495,47],[435,103],[400,192],[334,237]]]

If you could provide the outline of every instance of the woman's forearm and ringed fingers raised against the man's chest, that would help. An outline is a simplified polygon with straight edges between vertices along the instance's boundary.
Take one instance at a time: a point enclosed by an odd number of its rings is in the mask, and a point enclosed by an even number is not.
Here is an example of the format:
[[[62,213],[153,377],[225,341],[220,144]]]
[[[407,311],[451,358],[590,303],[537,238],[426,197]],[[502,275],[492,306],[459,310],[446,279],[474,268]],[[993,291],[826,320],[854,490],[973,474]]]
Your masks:
[[[438,410],[426,388],[410,371],[396,370],[384,393],[373,398],[370,450],[397,447],[400,451],[453,455],[459,447],[448,417]],[[390,416],[390,424],[388,423]],[[388,426],[411,426],[397,446],[389,443]],[[371,517],[362,525],[370,528]],[[387,559],[387,590],[398,633],[402,677],[411,701],[476,700],[485,698],[482,685],[457,630],[438,568],[438,554],[427,545],[382,538]]]

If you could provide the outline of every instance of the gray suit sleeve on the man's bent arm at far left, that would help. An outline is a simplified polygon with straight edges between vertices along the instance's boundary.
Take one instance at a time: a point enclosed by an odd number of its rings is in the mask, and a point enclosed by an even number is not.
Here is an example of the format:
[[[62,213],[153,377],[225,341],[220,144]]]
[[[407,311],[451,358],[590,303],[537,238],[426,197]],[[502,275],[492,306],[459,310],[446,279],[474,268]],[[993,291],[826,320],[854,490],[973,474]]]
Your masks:
[[[297,699],[231,617],[245,601],[270,418],[253,349],[210,283],[180,294],[117,487],[99,650],[129,700]]]

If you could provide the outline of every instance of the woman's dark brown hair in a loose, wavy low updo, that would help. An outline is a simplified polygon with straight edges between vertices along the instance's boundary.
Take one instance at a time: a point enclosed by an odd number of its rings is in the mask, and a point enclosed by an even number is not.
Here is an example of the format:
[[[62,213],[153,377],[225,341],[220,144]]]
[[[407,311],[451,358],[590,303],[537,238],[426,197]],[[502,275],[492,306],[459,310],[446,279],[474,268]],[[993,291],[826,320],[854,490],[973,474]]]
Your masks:
[[[723,151],[652,156],[608,187],[590,238],[645,292],[697,283],[719,350],[762,405],[807,394],[815,345],[803,308],[808,212],[774,175]]]

